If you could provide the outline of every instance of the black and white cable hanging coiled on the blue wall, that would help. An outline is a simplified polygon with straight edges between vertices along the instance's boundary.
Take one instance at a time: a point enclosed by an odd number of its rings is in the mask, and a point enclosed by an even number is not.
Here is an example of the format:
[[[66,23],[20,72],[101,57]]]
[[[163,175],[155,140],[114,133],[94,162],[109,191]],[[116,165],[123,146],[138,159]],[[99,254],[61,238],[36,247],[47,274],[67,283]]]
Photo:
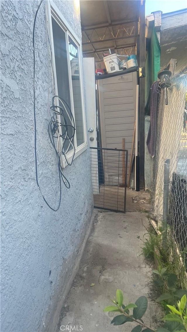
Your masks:
[[[38,165],[37,165],[37,130],[36,130],[36,93],[35,93],[35,67],[36,67],[36,60],[35,60],[35,25],[36,25],[36,18],[38,11],[40,9],[40,6],[42,4],[43,0],[41,0],[34,19],[34,26],[33,26],[33,56],[34,56],[34,73],[33,73],[33,94],[34,94],[34,136],[35,136],[35,169],[36,169],[36,183],[37,186],[42,194],[39,180],[38,180]],[[49,40],[49,36],[48,36]],[[50,40],[49,40],[50,43]],[[50,45],[51,49],[51,45]],[[53,68],[52,68],[53,70]],[[58,102],[58,105],[55,104],[55,101]],[[48,125],[48,133],[50,141],[54,147],[56,157],[57,157],[57,163],[58,163],[58,171],[59,171],[59,183],[60,183],[60,198],[58,207],[55,209],[50,206],[50,204],[45,199],[44,195],[42,194],[42,197],[47,204],[47,206],[53,210],[57,211],[61,204],[61,197],[62,197],[62,187],[61,187],[61,180],[65,184],[65,186],[69,189],[70,183],[68,179],[65,177],[65,175],[62,172],[62,166],[61,166],[61,156],[65,157],[65,160],[68,165],[72,165],[74,156],[75,156],[75,146],[74,146],[74,136],[75,136],[75,120],[72,114],[72,111],[69,107],[69,105],[66,103],[66,101],[60,97],[60,96],[53,96],[52,98],[52,106],[50,107],[51,111],[53,112],[51,116],[51,120]],[[70,123],[70,124],[68,124]],[[55,142],[55,139],[57,139],[57,142]],[[59,147],[60,143],[62,142],[62,146]],[[68,142],[68,144],[66,143]],[[66,146],[67,145],[67,146]],[[67,153],[70,150],[70,148],[73,149],[73,155],[71,158],[71,161],[68,160]]]

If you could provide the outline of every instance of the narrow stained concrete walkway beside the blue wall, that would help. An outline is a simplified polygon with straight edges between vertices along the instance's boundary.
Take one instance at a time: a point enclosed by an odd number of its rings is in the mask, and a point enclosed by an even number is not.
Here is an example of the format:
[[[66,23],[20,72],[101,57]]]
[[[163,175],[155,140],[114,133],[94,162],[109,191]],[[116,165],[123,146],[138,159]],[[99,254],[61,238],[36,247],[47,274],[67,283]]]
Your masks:
[[[130,208],[139,209],[138,199]],[[140,202],[141,203],[141,202]],[[110,305],[116,289],[124,294],[124,303],[134,303],[145,295],[148,297],[147,283],[151,276],[151,267],[145,263],[141,254],[143,238],[148,226],[145,213],[140,211],[115,213],[95,210],[95,221],[87,241],[79,272],[62,308],[59,331],[64,326],[76,325],[83,332],[127,331],[136,326],[125,323],[110,325],[116,313],[103,313]],[[94,286],[91,287],[92,283]],[[148,311],[144,322],[155,327],[157,304],[148,299]]]

